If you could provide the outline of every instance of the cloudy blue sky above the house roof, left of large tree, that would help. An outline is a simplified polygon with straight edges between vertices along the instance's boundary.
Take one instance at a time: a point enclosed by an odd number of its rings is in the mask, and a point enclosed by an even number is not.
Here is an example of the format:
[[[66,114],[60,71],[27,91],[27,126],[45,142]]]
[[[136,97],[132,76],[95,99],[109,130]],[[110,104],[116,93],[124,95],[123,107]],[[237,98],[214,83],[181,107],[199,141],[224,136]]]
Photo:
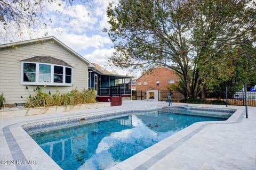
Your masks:
[[[89,0],[89,3],[72,6],[65,6],[61,1],[46,3],[43,8],[47,28],[34,30],[22,28],[22,36],[16,36],[10,31],[6,32],[10,35],[7,39],[9,42],[0,41],[0,44],[45,37],[47,33],[46,36],[56,37],[92,63],[97,63],[109,71],[115,70],[119,74],[137,77],[139,72],[131,73],[115,66],[109,66],[108,57],[113,54],[114,48],[111,47],[113,44],[107,33],[102,30],[110,27],[106,15],[110,2],[118,3],[115,0]]]

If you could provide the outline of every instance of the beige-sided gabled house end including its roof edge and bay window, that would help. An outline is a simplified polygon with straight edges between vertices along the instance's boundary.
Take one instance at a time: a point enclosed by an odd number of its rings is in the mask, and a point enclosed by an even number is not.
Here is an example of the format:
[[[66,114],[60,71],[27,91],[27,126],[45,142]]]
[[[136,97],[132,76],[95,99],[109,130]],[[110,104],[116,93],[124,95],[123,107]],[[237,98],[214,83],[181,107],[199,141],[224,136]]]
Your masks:
[[[95,66],[55,37],[0,45],[0,93],[6,104],[26,103],[37,86],[61,93],[88,89]],[[28,87],[28,89],[26,89]],[[22,96],[22,98],[21,98]]]

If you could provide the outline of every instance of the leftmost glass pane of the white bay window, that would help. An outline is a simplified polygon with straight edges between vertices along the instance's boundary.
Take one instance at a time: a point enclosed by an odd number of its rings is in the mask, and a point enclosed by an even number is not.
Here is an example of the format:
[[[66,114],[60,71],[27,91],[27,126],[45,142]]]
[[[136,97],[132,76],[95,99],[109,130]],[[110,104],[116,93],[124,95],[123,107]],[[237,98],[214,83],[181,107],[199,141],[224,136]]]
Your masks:
[[[24,63],[23,65],[23,81],[36,82],[36,64]]]

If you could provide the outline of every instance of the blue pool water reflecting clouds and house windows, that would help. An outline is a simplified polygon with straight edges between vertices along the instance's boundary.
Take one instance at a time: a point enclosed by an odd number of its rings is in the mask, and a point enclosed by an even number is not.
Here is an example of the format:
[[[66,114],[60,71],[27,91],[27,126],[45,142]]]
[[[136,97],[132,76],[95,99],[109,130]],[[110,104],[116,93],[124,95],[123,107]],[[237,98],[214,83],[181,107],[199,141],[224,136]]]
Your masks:
[[[30,136],[63,169],[106,169],[195,122],[229,117],[198,116],[202,112],[206,111],[166,109],[130,114]]]

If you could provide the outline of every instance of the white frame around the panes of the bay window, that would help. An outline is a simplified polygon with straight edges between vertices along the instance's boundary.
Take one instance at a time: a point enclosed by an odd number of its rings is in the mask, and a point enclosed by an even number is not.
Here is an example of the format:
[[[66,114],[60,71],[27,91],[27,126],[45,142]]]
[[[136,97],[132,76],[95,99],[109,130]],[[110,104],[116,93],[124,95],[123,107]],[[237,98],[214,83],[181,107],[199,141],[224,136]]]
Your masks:
[[[31,63],[31,64],[36,64],[36,81],[35,82],[28,82],[28,81],[23,81],[23,64],[24,63]],[[51,65],[51,82],[39,82],[39,64],[46,64],[46,65]],[[62,78],[62,83],[54,83],[53,78],[54,78],[54,66],[61,66],[63,67],[63,78]],[[50,63],[40,63],[40,62],[21,62],[21,72],[20,72],[20,84],[22,85],[38,85],[38,86],[73,86],[73,68],[68,67],[71,69],[71,83],[66,83],[66,67],[64,65],[58,65],[58,64],[50,64]]]

